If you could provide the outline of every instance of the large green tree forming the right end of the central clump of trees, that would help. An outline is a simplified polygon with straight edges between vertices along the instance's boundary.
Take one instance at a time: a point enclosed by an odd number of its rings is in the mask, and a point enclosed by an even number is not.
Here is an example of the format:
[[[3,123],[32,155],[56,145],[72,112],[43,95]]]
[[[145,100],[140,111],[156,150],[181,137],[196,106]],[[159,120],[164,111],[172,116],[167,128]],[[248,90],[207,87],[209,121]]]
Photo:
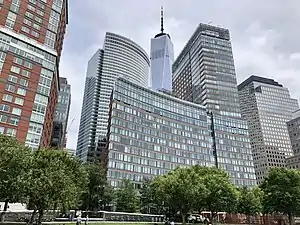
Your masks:
[[[208,195],[204,200],[206,209],[214,219],[218,212],[233,212],[238,203],[238,191],[228,174],[220,169],[208,168],[204,175]]]

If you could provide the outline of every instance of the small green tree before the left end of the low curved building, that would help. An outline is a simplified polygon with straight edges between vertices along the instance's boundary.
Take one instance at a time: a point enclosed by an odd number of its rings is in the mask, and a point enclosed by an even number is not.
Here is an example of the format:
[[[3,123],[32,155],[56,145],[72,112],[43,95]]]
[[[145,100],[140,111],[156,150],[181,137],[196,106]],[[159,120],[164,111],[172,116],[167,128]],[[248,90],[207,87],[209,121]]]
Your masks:
[[[122,187],[116,191],[117,211],[137,212],[140,208],[139,191],[134,188],[130,180],[124,180]]]

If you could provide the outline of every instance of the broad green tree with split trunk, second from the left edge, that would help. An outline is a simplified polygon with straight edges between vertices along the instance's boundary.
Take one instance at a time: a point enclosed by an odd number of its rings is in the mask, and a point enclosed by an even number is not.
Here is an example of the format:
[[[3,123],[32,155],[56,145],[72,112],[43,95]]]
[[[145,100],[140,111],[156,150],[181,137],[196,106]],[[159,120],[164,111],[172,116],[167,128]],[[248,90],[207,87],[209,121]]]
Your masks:
[[[46,210],[68,210],[74,207],[87,183],[81,162],[64,151],[36,151],[30,170],[28,196],[29,205],[34,210],[31,224],[37,211],[38,223],[41,224]]]

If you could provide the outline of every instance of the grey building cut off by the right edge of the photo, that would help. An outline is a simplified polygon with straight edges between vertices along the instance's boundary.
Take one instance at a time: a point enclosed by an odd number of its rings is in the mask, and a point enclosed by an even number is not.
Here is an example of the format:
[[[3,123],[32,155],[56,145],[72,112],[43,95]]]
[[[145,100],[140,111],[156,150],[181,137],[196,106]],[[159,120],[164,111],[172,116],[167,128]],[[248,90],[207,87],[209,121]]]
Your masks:
[[[293,113],[293,119],[287,122],[292,150],[295,155],[300,154],[300,109]]]

